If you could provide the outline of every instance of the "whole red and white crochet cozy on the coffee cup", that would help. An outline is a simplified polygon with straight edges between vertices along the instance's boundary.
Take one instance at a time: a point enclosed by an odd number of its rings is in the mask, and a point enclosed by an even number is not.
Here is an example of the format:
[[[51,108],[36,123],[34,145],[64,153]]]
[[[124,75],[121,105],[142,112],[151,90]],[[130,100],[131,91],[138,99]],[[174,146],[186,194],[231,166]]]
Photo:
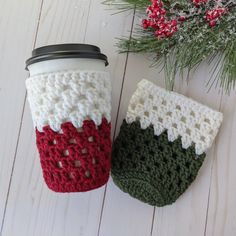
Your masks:
[[[26,80],[43,176],[56,192],[104,185],[110,171],[111,84],[99,71],[62,71]]]

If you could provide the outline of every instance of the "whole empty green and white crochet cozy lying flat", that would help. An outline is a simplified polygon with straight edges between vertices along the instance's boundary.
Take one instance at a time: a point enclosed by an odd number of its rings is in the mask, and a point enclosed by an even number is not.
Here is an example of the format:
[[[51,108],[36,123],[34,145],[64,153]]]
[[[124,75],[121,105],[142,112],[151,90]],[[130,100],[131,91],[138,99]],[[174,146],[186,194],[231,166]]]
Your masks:
[[[112,177],[131,196],[171,204],[197,176],[223,116],[142,80],[112,151]]]

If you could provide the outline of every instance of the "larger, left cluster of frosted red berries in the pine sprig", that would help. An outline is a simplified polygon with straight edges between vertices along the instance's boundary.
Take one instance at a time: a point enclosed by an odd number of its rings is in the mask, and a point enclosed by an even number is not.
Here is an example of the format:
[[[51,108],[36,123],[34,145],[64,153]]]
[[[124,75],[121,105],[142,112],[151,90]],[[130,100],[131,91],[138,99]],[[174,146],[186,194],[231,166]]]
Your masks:
[[[178,31],[177,20],[168,20],[166,17],[166,10],[163,7],[161,0],[151,0],[152,5],[147,7],[148,18],[142,21],[143,28],[148,27],[155,30],[155,35],[158,38],[166,38],[172,36]]]

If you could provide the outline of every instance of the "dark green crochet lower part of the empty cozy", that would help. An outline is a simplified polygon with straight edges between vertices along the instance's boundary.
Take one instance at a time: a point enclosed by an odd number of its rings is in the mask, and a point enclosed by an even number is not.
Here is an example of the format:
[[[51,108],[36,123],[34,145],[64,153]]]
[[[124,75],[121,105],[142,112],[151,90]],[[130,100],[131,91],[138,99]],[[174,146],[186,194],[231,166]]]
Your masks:
[[[181,139],[168,141],[167,132],[123,121],[113,144],[112,178],[124,192],[153,206],[175,202],[194,181],[205,159],[194,145],[183,149]]]

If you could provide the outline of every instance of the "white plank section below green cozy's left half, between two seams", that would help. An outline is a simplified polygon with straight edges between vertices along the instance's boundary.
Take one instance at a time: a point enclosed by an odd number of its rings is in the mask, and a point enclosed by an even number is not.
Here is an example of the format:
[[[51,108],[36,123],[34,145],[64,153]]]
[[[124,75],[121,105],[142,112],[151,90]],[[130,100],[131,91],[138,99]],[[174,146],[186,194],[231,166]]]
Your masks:
[[[153,207],[123,193],[110,180],[105,198],[100,236],[150,235]]]

